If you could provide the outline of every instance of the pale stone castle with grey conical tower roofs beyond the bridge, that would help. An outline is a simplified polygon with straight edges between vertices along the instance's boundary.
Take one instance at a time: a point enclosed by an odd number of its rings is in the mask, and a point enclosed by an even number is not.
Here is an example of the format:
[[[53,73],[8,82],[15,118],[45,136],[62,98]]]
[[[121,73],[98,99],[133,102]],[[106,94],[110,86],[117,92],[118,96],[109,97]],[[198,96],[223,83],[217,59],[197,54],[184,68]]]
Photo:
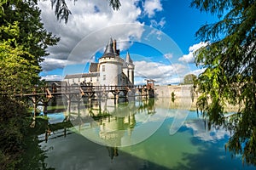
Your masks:
[[[71,85],[132,86],[134,85],[134,68],[129,52],[125,59],[120,58],[116,40],[110,38],[99,62],[90,63],[88,73],[66,75],[64,81]]]

